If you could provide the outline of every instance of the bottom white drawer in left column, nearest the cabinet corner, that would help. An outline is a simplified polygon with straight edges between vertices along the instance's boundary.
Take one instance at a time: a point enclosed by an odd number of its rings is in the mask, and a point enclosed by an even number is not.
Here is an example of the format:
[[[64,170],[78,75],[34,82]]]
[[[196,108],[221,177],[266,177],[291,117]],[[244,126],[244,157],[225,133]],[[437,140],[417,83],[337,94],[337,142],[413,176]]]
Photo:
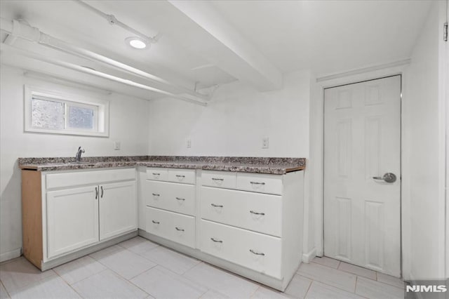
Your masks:
[[[195,246],[194,217],[149,206],[146,209],[147,232],[185,246]]]

